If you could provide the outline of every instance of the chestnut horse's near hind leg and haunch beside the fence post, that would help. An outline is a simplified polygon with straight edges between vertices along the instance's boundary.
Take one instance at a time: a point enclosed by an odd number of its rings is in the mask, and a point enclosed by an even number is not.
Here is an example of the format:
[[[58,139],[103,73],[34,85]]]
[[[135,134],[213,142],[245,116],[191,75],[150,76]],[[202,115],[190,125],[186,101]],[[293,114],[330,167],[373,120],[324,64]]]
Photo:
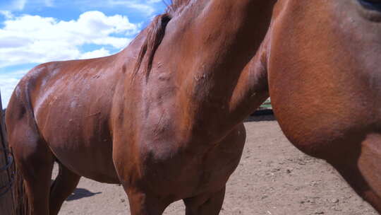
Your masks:
[[[6,111],[8,142],[17,172],[17,182],[13,186],[17,210],[28,215],[49,215],[54,156],[40,136],[32,110],[23,100],[22,93],[13,95]]]

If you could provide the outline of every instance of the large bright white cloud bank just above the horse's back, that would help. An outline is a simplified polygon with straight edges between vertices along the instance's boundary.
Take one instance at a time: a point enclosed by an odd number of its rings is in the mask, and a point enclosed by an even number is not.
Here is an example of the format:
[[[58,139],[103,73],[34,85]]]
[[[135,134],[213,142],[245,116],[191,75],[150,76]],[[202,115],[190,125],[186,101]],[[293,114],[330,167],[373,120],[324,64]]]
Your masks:
[[[99,11],[87,11],[72,21],[8,16],[4,28],[0,29],[0,68],[91,56],[80,52],[80,47],[86,44],[111,45],[120,50],[131,41],[128,36],[138,33],[139,28],[140,25],[130,23],[126,16],[106,16]],[[123,37],[114,36],[116,34]],[[102,52],[96,51],[94,53],[109,53],[104,48]]]

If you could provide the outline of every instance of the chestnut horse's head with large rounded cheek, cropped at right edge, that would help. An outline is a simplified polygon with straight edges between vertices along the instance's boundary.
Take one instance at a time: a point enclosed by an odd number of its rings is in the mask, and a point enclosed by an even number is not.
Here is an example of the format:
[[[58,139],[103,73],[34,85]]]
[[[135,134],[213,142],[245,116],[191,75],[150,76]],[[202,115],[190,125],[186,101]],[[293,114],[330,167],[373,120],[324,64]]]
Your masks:
[[[380,0],[279,0],[267,33],[270,95],[284,134],[331,163],[379,212],[380,21]]]

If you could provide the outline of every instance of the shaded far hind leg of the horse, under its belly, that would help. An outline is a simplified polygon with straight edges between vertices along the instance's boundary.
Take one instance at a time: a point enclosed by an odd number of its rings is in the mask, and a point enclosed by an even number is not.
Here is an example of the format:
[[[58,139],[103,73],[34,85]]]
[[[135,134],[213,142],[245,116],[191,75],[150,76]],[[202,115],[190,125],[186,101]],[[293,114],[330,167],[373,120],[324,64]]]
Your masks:
[[[59,163],[59,174],[50,189],[49,215],[56,215],[66,198],[74,191],[80,180],[80,175],[73,173]]]

